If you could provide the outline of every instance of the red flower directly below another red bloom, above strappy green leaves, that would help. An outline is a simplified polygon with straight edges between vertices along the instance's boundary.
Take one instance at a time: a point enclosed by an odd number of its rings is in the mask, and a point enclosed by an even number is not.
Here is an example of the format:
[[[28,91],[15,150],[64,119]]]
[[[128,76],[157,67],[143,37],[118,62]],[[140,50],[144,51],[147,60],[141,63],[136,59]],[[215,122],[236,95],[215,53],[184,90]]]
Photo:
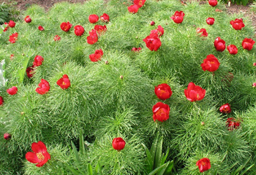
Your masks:
[[[159,122],[164,122],[169,118],[170,107],[162,102],[157,102],[152,108],[153,120],[154,122],[158,120]]]

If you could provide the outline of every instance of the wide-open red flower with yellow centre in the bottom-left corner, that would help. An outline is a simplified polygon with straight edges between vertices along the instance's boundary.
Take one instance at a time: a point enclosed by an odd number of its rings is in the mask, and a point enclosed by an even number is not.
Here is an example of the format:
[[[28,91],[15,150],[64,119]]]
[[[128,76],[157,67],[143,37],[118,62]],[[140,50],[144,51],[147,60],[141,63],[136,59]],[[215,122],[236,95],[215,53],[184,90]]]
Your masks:
[[[50,154],[47,152],[47,148],[42,141],[34,142],[31,145],[31,149],[33,152],[26,153],[26,160],[31,163],[37,163],[37,167],[43,166],[50,160]]]

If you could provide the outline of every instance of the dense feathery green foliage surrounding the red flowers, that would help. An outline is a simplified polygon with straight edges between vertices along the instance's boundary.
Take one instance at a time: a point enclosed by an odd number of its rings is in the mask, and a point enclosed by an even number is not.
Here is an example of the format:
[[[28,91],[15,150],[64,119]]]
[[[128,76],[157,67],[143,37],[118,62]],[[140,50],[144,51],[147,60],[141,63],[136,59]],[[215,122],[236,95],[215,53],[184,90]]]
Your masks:
[[[95,169],[97,165],[102,166],[103,174],[146,174],[144,148],[151,147],[157,133],[163,136],[162,152],[170,148],[166,162],[173,160],[173,174],[200,174],[196,162],[201,158],[211,160],[205,174],[256,173],[256,88],[252,88],[256,49],[244,50],[241,45],[244,38],[254,35],[250,21],[242,15],[227,15],[220,3],[211,7],[192,1],[184,6],[179,1],[147,0],[138,13],[130,14],[127,7],[131,4],[126,0],[62,2],[48,12],[31,6],[23,14],[24,18],[30,15],[31,23],[15,21],[15,28],[1,34],[0,61],[5,61],[7,83],[0,86],[4,98],[0,106],[0,174],[72,174],[70,168],[89,174],[90,166]],[[170,19],[177,10],[185,13],[180,24]],[[89,15],[103,13],[110,16],[110,22],[96,24],[106,25],[108,30],[97,43],[88,44],[86,37],[95,26],[89,23]],[[206,23],[208,17],[215,18],[213,26]],[[230,25],[236,18],[244,19],[241,31]],[[155,26],[149,25],[151,20]],[[61,23],[67,21],[72,23],[71,30],[61,31]],[[85,29],[83,36],[75,36],[76,25]],[[159,25],[165,29],[162,46],[148,50],[143,39]],[[208,36],[200,37],[197,28],[206,28]],[[18,40],[12,44],[8,40],[15,32]],[[53,40],[56,35],[61,37],[59,41]],[[238,54],[215,50],[217,36],[226,46],[236,44]],[[142,50],[132,52],[132,47]],[[99,48],[104,52],[101,61],[91,62],[89,55]],[[214,74],[200,66],[209,54],[220,63]],[[25,70],[36,55],[44,61],[29,79]],[[64,74],[71,82],[66,90],[56,84]],[[50,83],[50,91],[44,95],[35,91],[41,79]],[[206,89],[202,101],[191,102],[184,96],[189,82]],[[152,106],[161,101],[154,87],[162,83],[173,91],[162,101],[170,106],[170,118],[163,123],[152,118]],[[18,87],[14,96],[7,93],[12,86]],[[219,107],[226,103],[232,112],[221,114]],[[228,131],[229,117],[240,119],[241,126]],[[12,139],[4,140],[4,133],[10,133]],[[74,146],[79,149],[81,134],[86,147],[83,153],[79,151],[78,162]],[[120,152],[112,147],[116,137],[127,143]],[[45,143],[51,156],[40,168],[25,158],[37,141]]]

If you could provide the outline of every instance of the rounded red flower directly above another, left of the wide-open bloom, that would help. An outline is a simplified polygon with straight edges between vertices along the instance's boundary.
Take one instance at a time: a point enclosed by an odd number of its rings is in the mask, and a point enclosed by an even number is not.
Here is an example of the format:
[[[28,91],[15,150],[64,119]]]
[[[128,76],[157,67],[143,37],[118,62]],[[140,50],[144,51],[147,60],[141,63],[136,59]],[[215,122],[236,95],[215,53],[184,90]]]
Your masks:
[[[155,86],[154,87],[154,93],[157,95],[157,97],[160,100],[166,100],[172,96],[173,92],[170,89],[170,86],[162,83],[161,85]]]

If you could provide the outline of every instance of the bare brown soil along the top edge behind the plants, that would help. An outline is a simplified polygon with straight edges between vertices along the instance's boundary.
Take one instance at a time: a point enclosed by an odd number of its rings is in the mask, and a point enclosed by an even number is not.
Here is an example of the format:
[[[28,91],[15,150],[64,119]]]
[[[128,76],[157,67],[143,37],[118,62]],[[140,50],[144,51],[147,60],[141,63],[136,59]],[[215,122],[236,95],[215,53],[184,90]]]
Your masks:
[[[50,7],[53,6],[53,4],[61,2],[61,1],[68,1],[69,3],[84,3],[85,1],[89,0],[0,0],[0,2],[5,3],[11,3],[13,4],[18,10],[25,10],[27,7],[30,7],[31,4],[38,4],[39,6],[42,6],[47,11]],[[108,1],[108,0],[105,0]],[[205,4],[207,1],[202,0],[181,0],[181,3],[186,3],[186,1],[200,1],[200,4]],[[255,12],[252,12],[250,10],[251,7],[249,7],[250,4],[247,4],[246,6],[243,5],[237,5],[237,4],[230,4],[227,7],[227,14],[244,14],[245,17],[249,18],[252,21],[252,26],[255,28],[255,36],[256,36],[256,14]],[[239,17],[238,17],[239,18]]]

